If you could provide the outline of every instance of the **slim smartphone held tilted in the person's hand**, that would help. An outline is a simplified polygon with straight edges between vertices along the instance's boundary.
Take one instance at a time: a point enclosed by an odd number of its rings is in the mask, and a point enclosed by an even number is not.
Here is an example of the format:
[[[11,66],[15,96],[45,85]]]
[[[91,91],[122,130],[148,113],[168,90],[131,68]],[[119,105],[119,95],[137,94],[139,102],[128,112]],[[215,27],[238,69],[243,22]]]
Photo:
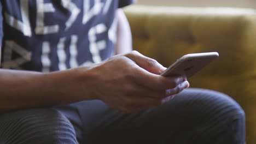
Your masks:
[[[189,79],[219,57],[218,52],[191,53],[184,55],[168,67],[161,76],[185,76]]]

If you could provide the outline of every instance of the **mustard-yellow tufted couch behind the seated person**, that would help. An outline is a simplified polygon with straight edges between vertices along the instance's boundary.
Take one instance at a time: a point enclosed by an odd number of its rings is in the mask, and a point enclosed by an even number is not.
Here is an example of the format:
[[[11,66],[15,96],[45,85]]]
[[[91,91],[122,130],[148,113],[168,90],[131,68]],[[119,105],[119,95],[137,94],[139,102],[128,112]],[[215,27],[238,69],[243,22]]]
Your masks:
[[[191,87],[229,94],[246,112],[247,143],[256,143],[256,10],[133,5],[125,8],[133,48],[166,67],[187,53],[219,52]]]

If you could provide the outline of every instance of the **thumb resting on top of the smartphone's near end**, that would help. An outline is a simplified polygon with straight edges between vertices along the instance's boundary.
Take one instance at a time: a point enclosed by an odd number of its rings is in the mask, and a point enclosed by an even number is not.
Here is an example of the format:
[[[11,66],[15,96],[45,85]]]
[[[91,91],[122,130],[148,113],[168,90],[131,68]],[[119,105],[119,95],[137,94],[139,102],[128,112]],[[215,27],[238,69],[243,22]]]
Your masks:
[[[125,56],[132,59],[132,61],[139,65],[139,67],[156,75],[160,75],[162,71],[166,69],[155,59],[146,57],[138,51],[132,51],[130,53],[127,53]]]

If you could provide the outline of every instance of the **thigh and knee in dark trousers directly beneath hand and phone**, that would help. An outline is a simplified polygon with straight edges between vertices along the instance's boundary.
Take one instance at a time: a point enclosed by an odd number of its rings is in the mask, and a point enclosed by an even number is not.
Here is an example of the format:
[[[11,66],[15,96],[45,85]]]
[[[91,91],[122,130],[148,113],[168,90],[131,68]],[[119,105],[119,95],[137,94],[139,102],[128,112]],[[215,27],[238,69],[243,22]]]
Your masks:
[[[245,131],[241,107],[227,95],[207,89],[188,88],[165,105],[132,114],[113,110],[100,100],[56,109],[71,119],[85,143],[186,143],[189,139],[214,137],[217,133],[213,131],[229,133],[224,128],[233,127],[229,124],[237,119],[241,124],[236,131],[241,132],[232,135],[243,135]]]

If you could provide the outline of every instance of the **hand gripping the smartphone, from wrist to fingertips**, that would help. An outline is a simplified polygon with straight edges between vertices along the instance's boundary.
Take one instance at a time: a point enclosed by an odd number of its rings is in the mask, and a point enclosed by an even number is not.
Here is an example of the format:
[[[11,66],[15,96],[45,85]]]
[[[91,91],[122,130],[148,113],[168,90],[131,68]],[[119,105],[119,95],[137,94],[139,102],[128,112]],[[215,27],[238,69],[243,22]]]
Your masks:
[[[160,76],[165,69],[154,59],[132,51],[88,70],[91,81],[84,89],[114,109],[137,112],[160,106],[189,87],[184,77]]]

